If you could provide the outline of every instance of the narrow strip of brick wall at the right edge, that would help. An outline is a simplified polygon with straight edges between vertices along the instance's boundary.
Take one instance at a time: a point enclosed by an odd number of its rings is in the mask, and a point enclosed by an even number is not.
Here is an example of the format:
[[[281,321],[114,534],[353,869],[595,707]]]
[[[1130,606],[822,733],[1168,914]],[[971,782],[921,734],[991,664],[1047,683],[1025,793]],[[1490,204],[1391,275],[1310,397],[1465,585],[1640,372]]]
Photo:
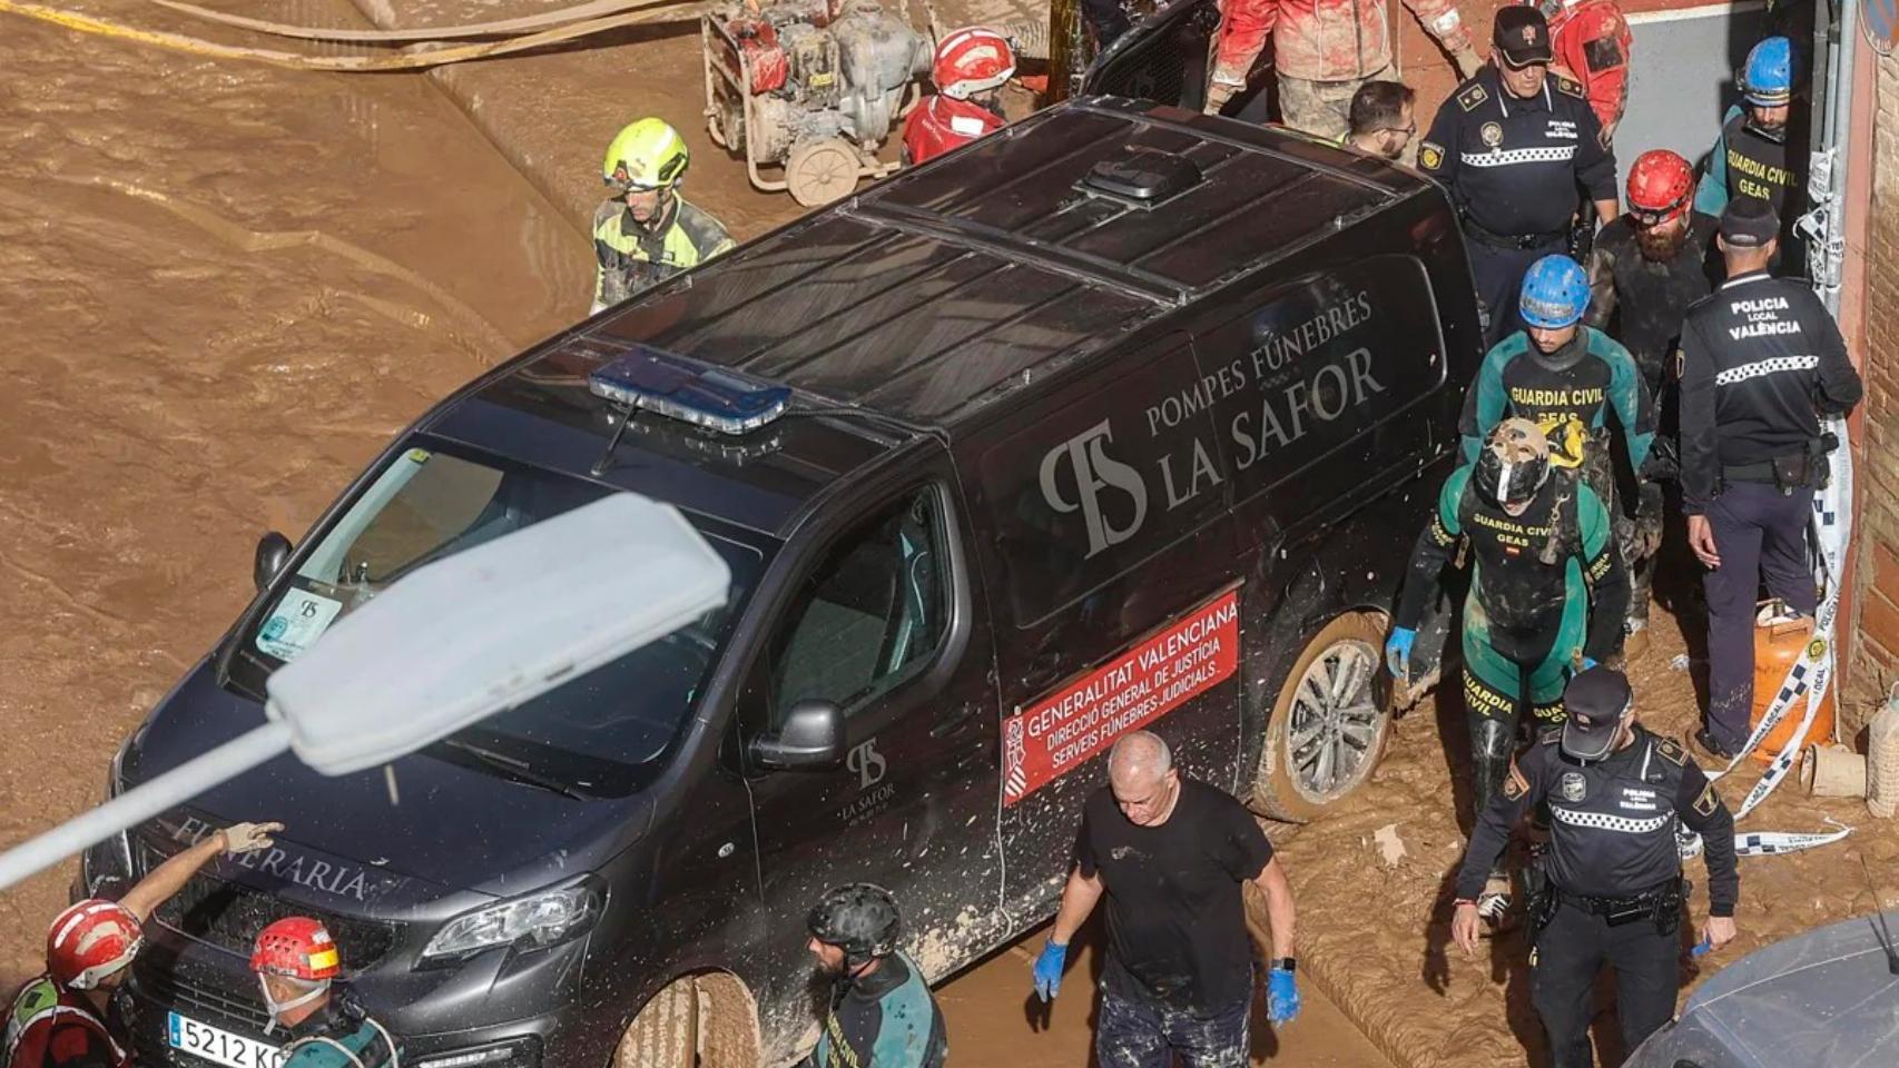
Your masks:
[[[1876,57],[1871,49],[1859,55]],[[1878,59],[1874,82],[1867,311],[1857,345],[1867,404],[1855,467],[1855,641],[1846,664],[1842,738],[1859,732],[1886,687],[1899,679],[1899,59]]]

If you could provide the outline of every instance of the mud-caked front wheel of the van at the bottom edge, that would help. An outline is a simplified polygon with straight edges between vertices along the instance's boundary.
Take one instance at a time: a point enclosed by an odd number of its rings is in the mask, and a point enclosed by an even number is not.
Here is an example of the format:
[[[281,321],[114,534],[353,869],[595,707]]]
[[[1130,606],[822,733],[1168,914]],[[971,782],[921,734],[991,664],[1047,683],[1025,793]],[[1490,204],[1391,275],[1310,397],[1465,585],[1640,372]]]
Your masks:
[[[619,1038],[610,1068],[758,1068],[758,1009],[725,971],[674,979]]]

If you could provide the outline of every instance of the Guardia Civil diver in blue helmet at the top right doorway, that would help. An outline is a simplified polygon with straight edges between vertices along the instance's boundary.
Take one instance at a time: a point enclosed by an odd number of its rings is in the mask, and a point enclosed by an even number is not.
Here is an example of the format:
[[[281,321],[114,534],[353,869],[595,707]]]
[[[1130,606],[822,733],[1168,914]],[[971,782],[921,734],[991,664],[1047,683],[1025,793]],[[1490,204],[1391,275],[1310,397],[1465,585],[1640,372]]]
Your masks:
[[[1720,218],[1732,199],[1760,201],[1781,220],[1779,258],[1806,273],[1795,222],[1806,211],[1808,146],[1804,118],[1793,106],[1795,51],[1787,38],[1766,38],[1747,53],[1741,102],[1720,120],[1707,171],[1694,192],[1694,211]]]

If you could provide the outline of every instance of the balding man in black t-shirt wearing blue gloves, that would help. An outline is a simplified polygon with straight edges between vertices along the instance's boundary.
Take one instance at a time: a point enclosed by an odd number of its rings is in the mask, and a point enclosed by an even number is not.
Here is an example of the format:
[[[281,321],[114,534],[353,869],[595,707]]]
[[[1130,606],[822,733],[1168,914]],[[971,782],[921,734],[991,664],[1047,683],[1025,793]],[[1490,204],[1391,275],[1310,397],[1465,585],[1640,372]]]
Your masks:
[[[1293,897],[1259,823],[1238,801],[1181,778],[1166,742],[1138,730],[1115,744],[1109,785],[1082,810],[1075,867],[1035,992],[1054,1000],[1075,930],[1107,895],[1101,1068],[1244,1068],[1253,996],[1242,884],[1257,882],[1272,922],[1269,1019],[1299,1013]]]

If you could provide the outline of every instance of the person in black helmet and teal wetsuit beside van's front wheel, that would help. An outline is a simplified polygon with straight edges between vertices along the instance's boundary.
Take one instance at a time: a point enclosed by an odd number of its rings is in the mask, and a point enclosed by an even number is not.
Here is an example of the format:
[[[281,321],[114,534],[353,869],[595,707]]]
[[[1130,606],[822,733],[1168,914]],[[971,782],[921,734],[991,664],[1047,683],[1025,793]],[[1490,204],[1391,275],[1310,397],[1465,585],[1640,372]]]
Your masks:
[[[803,1068],[942,1068],[944,1015],[923,969],[896,948],[902,914],[891,892],[834,886],[811,907],[805,930],[830,998]]]

